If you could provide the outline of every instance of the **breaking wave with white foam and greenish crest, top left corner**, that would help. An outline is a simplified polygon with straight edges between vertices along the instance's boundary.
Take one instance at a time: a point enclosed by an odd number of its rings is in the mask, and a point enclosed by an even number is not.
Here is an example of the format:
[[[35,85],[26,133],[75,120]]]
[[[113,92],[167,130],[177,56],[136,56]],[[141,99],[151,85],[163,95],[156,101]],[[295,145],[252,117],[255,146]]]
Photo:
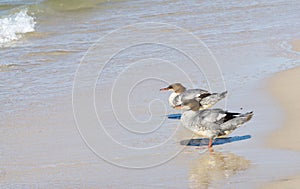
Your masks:
[[[1,1],[1,0],[0,0]],[[0,5],[0,48],[34,32],[36,17],[47,17],[58,12],[89,10],[102,3],[122,0],[20,0]]]

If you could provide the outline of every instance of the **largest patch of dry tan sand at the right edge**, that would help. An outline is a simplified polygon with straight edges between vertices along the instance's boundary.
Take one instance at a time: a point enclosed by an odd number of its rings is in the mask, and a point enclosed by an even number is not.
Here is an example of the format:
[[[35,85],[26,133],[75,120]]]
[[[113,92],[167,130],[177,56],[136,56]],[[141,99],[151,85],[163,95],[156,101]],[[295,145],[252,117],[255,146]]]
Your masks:
[[[275,131],[270,145],[276,148],[300,151],[300,68],[277,74],[271,81],[270,91],[284,110],[284,127]]]

